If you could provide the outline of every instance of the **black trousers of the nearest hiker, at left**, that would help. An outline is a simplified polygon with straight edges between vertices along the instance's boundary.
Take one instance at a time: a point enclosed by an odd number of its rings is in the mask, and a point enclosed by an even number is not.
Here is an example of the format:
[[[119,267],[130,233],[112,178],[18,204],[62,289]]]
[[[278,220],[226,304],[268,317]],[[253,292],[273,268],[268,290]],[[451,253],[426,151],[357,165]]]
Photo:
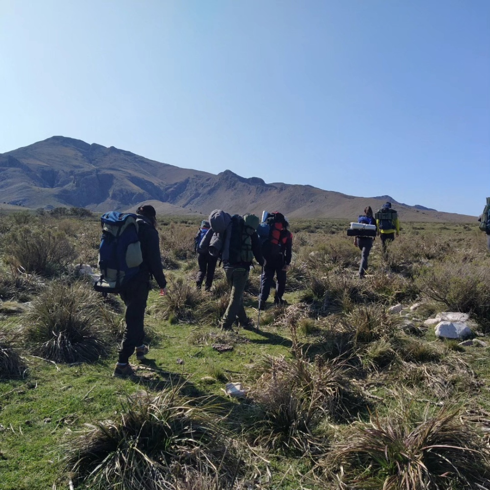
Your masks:
[[[134,349],[143,344],[145,337],[144,319],[147,307],[149,282],[133,281],[119,293],[126,305],[126,328],[119,348],[119,362],[127,363]]]

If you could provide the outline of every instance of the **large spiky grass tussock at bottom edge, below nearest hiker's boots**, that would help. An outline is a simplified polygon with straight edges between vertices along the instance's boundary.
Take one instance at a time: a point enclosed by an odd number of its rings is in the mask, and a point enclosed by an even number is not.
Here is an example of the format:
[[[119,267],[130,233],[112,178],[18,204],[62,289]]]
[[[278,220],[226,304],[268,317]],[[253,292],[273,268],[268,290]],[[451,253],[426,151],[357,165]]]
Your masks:
[[[230,489],[241,473],[234,444],[214,408],[166,389],[122,402],[115,420],[85,424],[65,444],[67,469],[92,489],[178,490],[189,476]]]

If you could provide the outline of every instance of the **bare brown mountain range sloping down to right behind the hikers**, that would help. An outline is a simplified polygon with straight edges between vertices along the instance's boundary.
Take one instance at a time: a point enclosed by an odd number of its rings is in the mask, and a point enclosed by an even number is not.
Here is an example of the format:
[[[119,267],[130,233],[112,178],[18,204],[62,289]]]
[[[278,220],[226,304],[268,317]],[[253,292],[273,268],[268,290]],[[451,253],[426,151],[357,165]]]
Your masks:
[[[475,217],[408,206],[390,196],[355,197],[309,185],[267,184],[229,170],[214,175],[149,160],[115,147],[53,136],[0,154],[0,202],[30,208],[134,209],[151,201],[165,214],[208,215],[281,210],[290,218],[356,219],[386,200],[405,221],[473,221]]]

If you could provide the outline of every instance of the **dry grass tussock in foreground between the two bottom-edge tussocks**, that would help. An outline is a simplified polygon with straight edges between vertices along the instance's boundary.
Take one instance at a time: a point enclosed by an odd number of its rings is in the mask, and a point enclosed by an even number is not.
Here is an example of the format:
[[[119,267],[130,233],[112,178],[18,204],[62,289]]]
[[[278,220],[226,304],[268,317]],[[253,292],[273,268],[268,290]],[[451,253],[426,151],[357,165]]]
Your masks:
[[[350,419],[359,411],[349,368],[338,359],[266,357],[251,370],[260,373],[251,392],[254,444],[290,455],[318,453],[327,444],[320,422]]]

